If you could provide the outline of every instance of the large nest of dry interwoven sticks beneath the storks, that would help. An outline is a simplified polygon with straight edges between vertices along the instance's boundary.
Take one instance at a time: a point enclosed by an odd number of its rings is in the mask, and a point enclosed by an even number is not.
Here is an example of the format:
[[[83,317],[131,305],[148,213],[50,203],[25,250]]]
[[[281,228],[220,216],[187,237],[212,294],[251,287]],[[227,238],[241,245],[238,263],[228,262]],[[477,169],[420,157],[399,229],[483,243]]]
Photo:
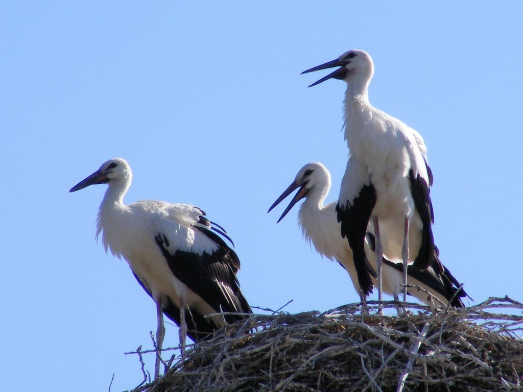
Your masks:
[[[194,345],[134,392],[523,390],[522,304],[407,305],[400,316],[393,302],[385,316],[376,304],[363,313],[346,305],[255,315]]]

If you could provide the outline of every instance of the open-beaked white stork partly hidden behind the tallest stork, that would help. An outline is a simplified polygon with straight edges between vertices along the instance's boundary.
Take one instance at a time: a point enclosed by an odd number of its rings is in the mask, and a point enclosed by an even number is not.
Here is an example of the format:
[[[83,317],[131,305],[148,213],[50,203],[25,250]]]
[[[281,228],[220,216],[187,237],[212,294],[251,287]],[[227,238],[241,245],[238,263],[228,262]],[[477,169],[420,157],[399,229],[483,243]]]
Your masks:
[[[298,222],[303,236],[314,245],[314,248],[322,257],[338,261],[340,266],[349,274],[354,289],[363,302],[365,296],[363,296],[358,283],[357,271],[353,261],[353,251],[350,249],[348,242],[339,235],[340,223],[337,221],[337,202],[324,205],[326,195],[331,189],[331,174],[324,165],[319,162],[312,162],[303,166],[298,171],[291,185],[270,206],[268,212],[298,188],[298,192],[294,195],[285,211],[283,211],[278,222],[287,215],[298,201],[305,199],[300,205],[298,212]],[[374,258],[371,256],[374,247],[374,235],[372,233],[367,233],[364,246],[367,258],[371,264],[366,264],[366,271],[370,274],[371,279],[374,280],[376,278],[374,270],[376,263],[373,263]],[[457,280],[447,269],[443,273],[437,272],[439,261],[435,267],[429,266],[422,271],[413,265],[408,266],[408,284],[422,287],[445,305],[450,303],[451,306],[462,307],[463,303],[460,298],[467,294],[463,289],[460,289]],[[392,295],[396,301],[402,292],[402,270],[402,264],[383,259],[383,292]],[[419,299],[419,301],[430,304],[431,298],[424,292],[414,289],[408,291],[408,293]]]

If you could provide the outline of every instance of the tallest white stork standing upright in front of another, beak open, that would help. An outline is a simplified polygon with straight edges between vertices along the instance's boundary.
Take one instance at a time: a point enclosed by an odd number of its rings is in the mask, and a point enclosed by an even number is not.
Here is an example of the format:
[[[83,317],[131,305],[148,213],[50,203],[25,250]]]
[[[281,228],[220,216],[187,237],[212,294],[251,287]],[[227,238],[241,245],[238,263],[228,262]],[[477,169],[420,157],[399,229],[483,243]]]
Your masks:
[[[390,260],[403,260],[405,283],[410,260],[420,270],[435,261],[431,228],[434,212],[429,195],[433,177],[427,148],[418,132],[370,104],[368,86],[374,65],[368,53],[351,50],[303,73],[332,67],[340,68],[309,87],[330,78],[347,83],[345,140],[350,155],[337,216],[342,223],[342,236],[347,237],[353,249],[357,270],[365,269],[365,236],[369,223],[373,226],[381,299],[383,255]],[[438,273],[443,273],[442,266],[438,269]],[[360,281],[360,285],[366,294],[372,289],[370,279]]]

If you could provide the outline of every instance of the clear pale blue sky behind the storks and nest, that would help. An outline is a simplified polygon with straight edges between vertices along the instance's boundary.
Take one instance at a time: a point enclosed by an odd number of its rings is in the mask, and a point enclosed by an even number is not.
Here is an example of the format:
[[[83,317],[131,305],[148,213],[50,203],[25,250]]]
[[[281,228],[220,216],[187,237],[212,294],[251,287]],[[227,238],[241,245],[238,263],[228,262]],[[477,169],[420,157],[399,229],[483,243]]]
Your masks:
[[[356,302],[297,208],[279,224],[283,205],[266,213],[314,160],[337,198],[345,86],[308,89],[324,74],[300,72],[349,49],[374,60],[373,105],[425,138],[442,261],[475,302],[522,301],[522,15],[521,2],[2,2],[2,389],[141,381],[123,353],[151,346],[155,306],[95,242],[105,186],[68,193],[112,157],[133,169],[127,203],[196,204],[228,230],[252,305]]]

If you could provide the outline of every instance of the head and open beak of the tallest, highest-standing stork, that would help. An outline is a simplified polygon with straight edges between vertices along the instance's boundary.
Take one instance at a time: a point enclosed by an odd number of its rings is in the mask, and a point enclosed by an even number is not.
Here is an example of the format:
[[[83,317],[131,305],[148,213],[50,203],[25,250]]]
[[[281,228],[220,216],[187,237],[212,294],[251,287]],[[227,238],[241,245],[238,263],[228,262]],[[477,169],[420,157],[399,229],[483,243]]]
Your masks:
[[[334,67],[339,68],[327,76],[322,77],[320,80],[317,80],[317,82],[314,82],[309,87],[332,78],[345,80],[345,82],[349,84],[359,80],[361,83],[366,85],[374,74],[374,64],[372,63],[372,59],[370,58],[369,53],[362,50],[349,50],[337,59],[310,68],[310,70],[303,71],[302,74]]]

